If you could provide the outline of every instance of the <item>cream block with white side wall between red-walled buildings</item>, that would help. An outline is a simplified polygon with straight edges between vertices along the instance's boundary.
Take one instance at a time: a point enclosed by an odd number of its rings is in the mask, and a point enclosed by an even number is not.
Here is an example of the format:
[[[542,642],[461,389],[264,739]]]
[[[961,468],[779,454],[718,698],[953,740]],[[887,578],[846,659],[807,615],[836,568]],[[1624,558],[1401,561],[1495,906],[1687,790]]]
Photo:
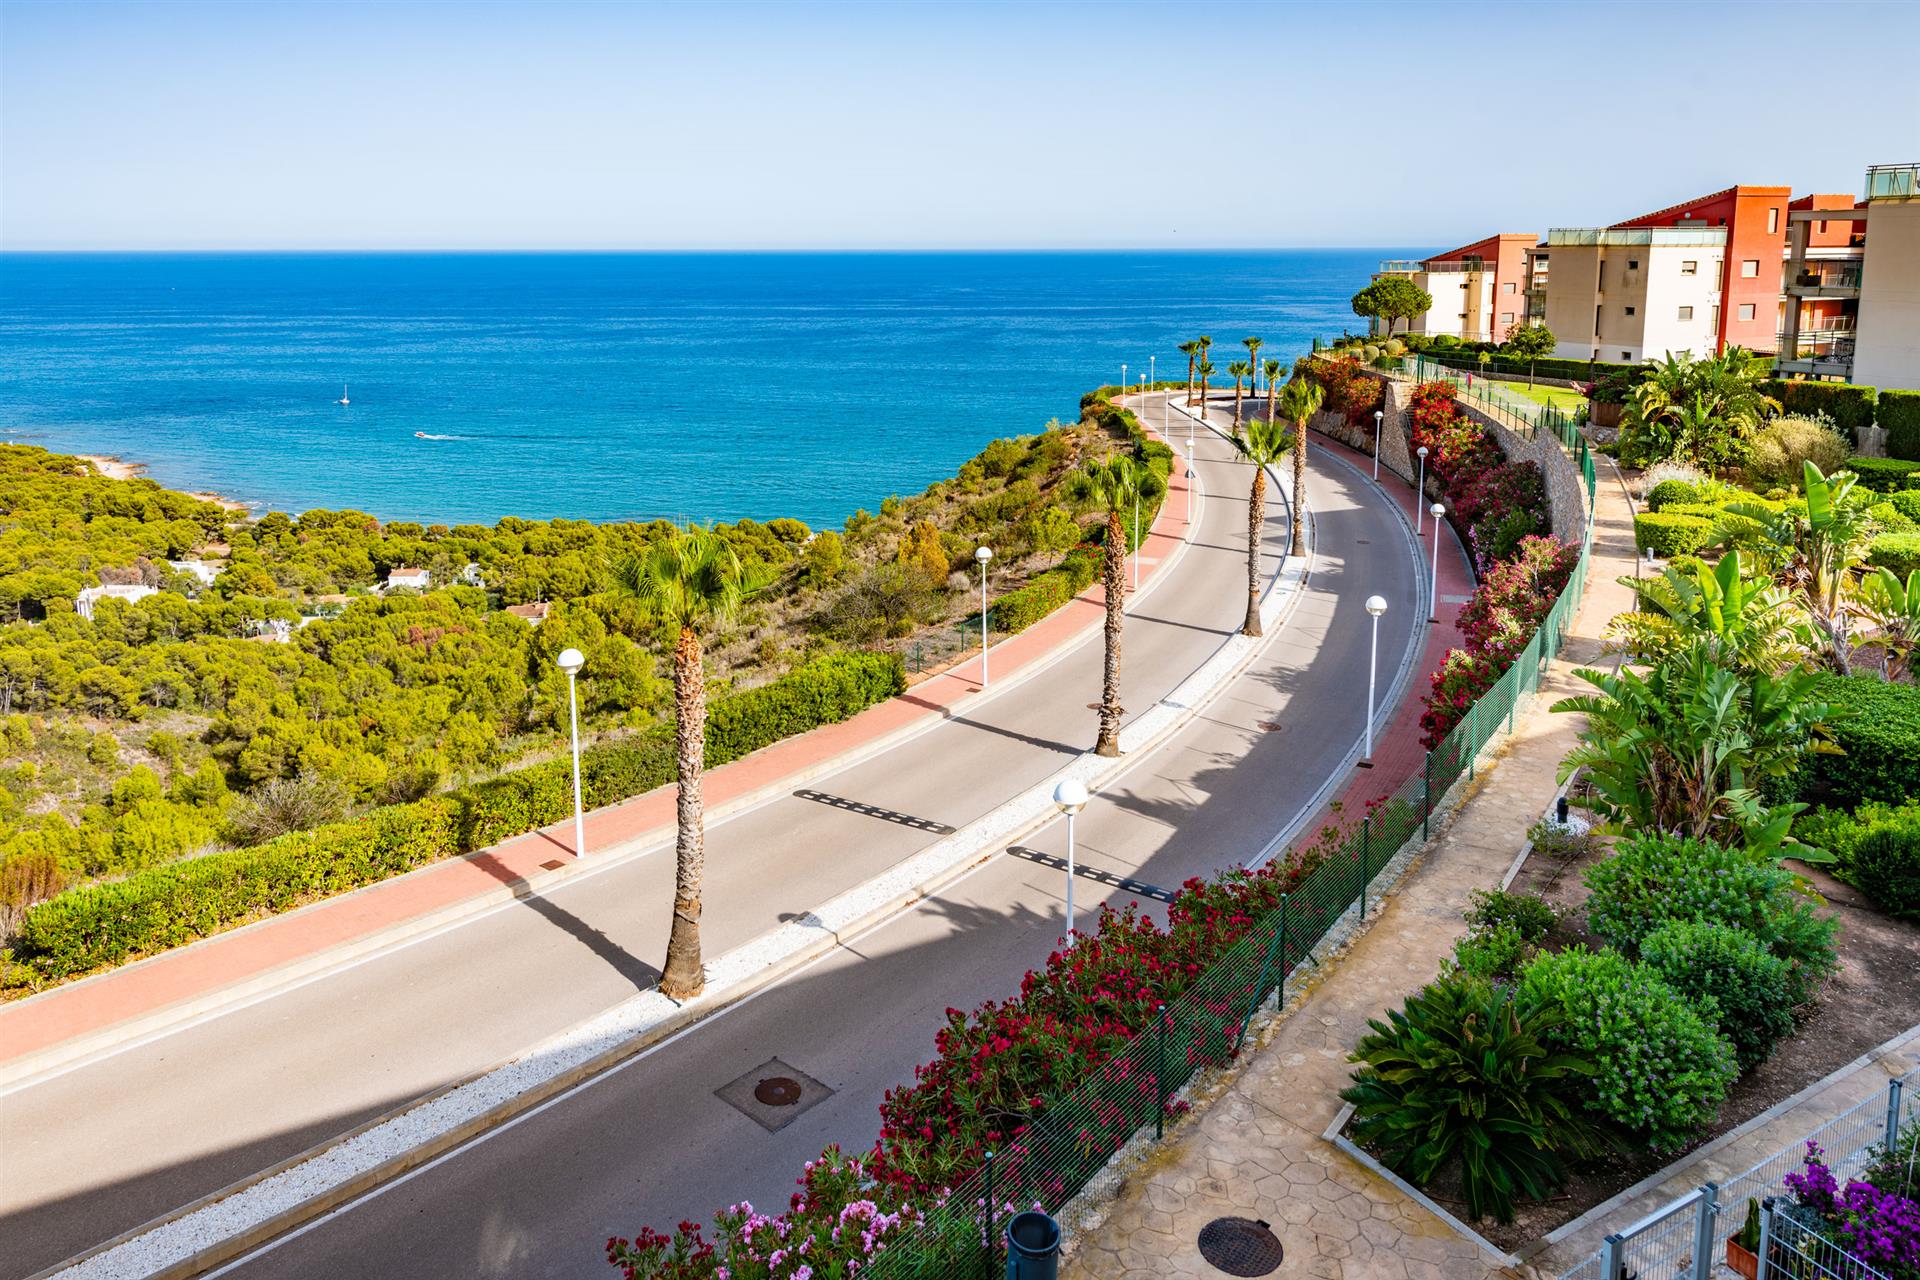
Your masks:
[[[1561,226],[1528,255],[1526,297],[1561,359],[1707,355],[1724,330],[1726,253],[1722,226]]]

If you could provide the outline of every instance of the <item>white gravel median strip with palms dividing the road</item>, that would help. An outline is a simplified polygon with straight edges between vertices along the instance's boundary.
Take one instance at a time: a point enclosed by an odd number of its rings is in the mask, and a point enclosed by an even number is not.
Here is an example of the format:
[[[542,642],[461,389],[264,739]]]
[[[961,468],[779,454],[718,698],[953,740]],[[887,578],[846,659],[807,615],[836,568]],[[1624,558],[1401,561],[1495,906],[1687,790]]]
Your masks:
[[[1308,555],[1286,557],[1261,597],[1265,635],[1223,641],[1194,676],[1121,731],[1119,758],[1083,754],[1039,787],[891,871],[724,954],[707,967],[707,992],[695,1000],[674,1004],[657,990],[634,996],[490,1071],[376,1117],[340,1140],[125,1232],[31,1280],[173,1280],[209,1270],[645,1052],[937,892],[1025,831],[1052,821],[1052,785],[1058,779],[1079,777],[1089,791],[1098,791],[1108,775],[1135,764],[1129,756],[1156,747],[1219,697],[1298,601],[1313,558],[1311,520],[1308,530]]]

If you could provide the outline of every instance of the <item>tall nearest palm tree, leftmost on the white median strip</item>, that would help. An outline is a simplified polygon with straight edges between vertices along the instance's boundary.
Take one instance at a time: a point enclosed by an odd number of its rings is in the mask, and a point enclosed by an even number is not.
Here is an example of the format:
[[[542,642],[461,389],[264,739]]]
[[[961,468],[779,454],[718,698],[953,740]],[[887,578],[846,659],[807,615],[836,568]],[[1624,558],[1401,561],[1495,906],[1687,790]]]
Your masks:
[[[689,1000],[707,986],[701,963],[701,881],[707,875],[707,681],[701,628],[724,622],[758,583],[712,530],[674,530],[614,564],[612,589],[674,629],[674,750],[680,796],[674,839],[674,927],[666,938],[660,994]]]

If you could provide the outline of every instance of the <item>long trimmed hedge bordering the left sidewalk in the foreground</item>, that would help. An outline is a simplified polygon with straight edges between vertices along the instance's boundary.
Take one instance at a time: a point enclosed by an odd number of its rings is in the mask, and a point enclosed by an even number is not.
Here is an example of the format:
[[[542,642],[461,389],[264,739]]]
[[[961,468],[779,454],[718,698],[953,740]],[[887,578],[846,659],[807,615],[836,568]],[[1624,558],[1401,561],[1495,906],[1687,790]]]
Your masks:
[[[899,654],[816,658],[756,689],[714,699],[707,716],[707,764],[722,766],[783,737],[847,720],[904,689]],[[670,725],[580,754],[580,785],[589,806],[662,787],[674,781],[674,771]],[[572,810],[570,766],[551,760],[255,848],[69,889],[27,912],[13,960],[40,981],[73,977],[474,852],[561,821]]]

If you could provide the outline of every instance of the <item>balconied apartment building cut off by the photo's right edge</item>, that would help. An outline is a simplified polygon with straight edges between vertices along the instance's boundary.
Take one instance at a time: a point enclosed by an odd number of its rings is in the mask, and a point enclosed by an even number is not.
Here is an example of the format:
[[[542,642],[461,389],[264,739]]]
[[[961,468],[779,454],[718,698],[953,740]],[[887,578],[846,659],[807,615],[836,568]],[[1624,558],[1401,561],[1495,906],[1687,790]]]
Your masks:
[[[1874,165],[1866,196],[1789,213],[1776,368],[1920,390],[1920,165]]]

